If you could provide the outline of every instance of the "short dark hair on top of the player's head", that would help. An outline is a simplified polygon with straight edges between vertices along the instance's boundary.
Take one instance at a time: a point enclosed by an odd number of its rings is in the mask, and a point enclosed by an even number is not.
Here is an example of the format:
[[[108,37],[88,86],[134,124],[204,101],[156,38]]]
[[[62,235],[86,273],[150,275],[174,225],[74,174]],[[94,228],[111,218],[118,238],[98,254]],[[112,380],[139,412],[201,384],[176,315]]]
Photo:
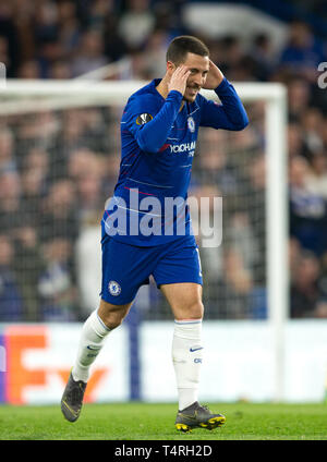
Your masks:
[[[191,35],[181,35],[170,42],[166,53],[166,60],[174,64],[180,64],[185,60],[189,52],[199,54],[201,57],[209,56],[209,50],[202,40]]]

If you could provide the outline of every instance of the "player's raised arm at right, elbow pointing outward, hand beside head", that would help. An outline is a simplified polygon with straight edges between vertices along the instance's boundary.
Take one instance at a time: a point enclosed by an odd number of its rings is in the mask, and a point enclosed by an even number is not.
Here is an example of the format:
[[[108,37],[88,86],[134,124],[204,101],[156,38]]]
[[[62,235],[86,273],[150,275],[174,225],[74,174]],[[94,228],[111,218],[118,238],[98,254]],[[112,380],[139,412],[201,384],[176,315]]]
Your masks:
[[[221,104],[202,97],[199,122],[202,126],[233,131],[245,129],[249,124],[249,118],[242,101],[234,87],[213,61],[210,61],[209,72],[203,88],[213,89]]]

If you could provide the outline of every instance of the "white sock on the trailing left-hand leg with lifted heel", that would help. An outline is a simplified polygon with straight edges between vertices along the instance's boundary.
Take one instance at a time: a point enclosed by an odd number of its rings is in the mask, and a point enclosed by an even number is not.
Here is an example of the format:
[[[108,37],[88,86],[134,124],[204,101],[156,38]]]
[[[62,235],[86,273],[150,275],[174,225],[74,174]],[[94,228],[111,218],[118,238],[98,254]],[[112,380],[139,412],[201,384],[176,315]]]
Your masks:
[[[99,354],[110,329],[98,316],[97,309],[84,323],[77,350],[77,357],[72,369],[74,380],[87,382],[89,367]]]

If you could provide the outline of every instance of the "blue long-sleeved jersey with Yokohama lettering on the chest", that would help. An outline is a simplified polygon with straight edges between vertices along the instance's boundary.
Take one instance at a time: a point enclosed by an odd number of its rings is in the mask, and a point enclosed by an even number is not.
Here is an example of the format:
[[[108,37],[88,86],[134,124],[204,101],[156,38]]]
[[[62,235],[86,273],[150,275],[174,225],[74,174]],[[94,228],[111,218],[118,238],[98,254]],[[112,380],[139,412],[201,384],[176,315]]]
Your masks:
[[[159,82],[154,80],[134,93],[124,108],[119,179],[104,215],[106,232],[132,245],[152,246],[178,239],[181,220],[184,234],[192,235],[184,206],[198,127],[239,131],[249,123],[227,78],[215,89],[221,104],[198,94],[181,110],[182,94],[171,90],[165,99],[156,89]],[[169,207],[171,200],[173,208]]]

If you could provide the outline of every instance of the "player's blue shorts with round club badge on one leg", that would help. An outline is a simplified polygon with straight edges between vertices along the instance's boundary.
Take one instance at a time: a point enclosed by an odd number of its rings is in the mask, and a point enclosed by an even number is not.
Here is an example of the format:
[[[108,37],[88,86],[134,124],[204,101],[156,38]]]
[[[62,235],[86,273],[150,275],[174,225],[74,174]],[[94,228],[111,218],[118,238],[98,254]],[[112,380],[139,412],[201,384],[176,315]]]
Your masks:
[[[138,247],[124,244],[105,232],[102,246],[101,299],[113,305],[131,303],[152,275],[161,284],[202,284],[198,248],[194,236],[182,236],[169,244]]]

